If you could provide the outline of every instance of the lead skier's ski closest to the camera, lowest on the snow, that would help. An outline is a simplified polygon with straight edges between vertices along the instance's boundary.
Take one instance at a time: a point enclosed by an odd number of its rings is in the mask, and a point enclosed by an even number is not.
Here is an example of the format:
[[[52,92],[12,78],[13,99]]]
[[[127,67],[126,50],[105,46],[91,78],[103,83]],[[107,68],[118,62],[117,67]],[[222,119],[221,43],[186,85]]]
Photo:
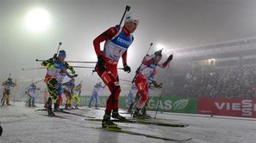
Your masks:
[[[193,139],[193,138],[188,138],[188,139],[165,138],[165,137],[161,137],[161,136],[153,135],[153,134],[143,134],[143,133],[139,133],[139,132],[134,132],[134,131],[122,129],[122,128],[119,128],[119,127],[118,128],[97,128],[97,127],[91,127],[91,128],[103,129],[103,130],[117,132],[117,133],[123,133],[123,134],[132,134],[132,135],[146,136],[147,138],[154,138],[154,139],[159,139],[159,140],[188,141],[188,140],[192,140]]]

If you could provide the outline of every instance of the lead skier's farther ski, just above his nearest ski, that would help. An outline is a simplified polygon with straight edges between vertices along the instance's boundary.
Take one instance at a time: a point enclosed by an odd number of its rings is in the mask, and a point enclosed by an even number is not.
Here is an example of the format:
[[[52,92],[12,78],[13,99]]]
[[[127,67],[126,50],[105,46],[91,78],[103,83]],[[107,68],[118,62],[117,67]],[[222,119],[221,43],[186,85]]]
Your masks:
[[[84,119],[85,121],[95,121],[95,122],[102,122],[102,119]],[[112,119],[112,122],[121,122],[117,119]],[[178,128],[185,128],[188,127],[189,124],[185,123],[168,123],[168,122],[153,122],[153,121],[147,121],[147,120],[134,120],[134,119],[126,119],[125,121],[122,121],[123,123],[140,123],[140,124],[152,124],[152,125],[158,125],[158,126],[165,126],[165,127],[178,127]]]

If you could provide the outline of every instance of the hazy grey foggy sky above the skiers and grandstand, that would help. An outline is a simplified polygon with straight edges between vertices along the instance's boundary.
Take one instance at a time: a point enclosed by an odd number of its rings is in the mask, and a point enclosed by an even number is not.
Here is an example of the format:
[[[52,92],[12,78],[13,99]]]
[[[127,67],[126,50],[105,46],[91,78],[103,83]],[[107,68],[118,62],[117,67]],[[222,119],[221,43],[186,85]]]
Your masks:
[[[127,3],[140,15],[140,25],[128,50],[133,73],[121,71],[123,79],[133,77],[151,42],[170,50],[256,36],[256,0],[0,0],[0,80],[9,73],[18,80],[42,78],[45,70],[21,69],[40,67],[34,59],[52,57],[59,41],[67,60],[96,61],[92,40],[119,23]],[[43,33],[24,25],[36,7],[50,16]],[[89,69],[78,74],[97,80]]]

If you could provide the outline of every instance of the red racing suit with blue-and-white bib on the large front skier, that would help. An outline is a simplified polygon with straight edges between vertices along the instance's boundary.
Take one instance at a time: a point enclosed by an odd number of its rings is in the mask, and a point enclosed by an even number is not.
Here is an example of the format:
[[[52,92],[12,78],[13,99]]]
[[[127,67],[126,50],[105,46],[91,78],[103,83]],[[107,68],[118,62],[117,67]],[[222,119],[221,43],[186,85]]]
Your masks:
[[[110,27],[93,41],[97,57],[103,57],[105,63],[103,70],[100,70],[97,64],[97,74],[111,92],[105,110],[105,113],[108,115],[111,113],[111,110],[118,110],[118,98],[121,87],[117,74],[117,63],[120,57],[122,57],[123,64],[127,63],[127,50],[133,40],[133,35],[128,32],[126,27]],[[103,41],[105,41],[104,50],[101,51],[100,43]]]

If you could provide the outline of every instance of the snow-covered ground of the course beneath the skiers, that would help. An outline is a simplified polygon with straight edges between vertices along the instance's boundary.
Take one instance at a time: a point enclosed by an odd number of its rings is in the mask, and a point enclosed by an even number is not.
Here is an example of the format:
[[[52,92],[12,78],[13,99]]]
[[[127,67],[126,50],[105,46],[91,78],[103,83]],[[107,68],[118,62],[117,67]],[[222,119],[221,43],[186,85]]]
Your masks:
[[[24,103],[0,106],[0,122],[3,134],[1,143],[164,143],[174,142],[109,132],[91,127],[101,127],[101,122],[84,121],[83,116],[57,113],[65,119],[43,116],[46,111],[42,104],[28,108]],[[103,109],[70,110],[86,116],[102,118]],[[88,109],[88,110],[87,110]],[[122,110],[121,110],[122,111]],[[124,114],[125,116],[128,116]],[[153,115],[153,112],[152,112]],[[171,128],[155,125],[118,123],[122,128],[140,133],[157,134],[168,138],[189,138],[187,143],[254,143],[256,140],[256,120],[232,117],[209,117],[197,115],[159,114],[158,118],[169,122],[186,122],[186,128]]]

